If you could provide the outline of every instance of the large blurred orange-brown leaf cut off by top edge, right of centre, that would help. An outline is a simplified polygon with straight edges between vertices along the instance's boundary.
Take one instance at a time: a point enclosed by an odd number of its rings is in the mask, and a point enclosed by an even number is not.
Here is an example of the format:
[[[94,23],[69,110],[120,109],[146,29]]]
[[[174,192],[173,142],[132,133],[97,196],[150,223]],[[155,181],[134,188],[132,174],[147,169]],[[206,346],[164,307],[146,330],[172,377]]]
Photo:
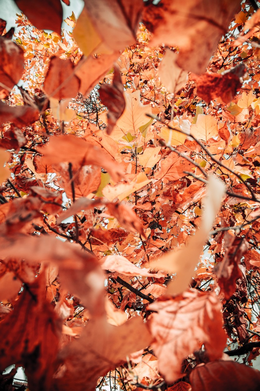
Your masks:
[[[240,0],[187,0],[185,4],[165,0],[156,5],[149,2],[142,21],[153,33],[150,45],[180,47],[177,64],[199,75],[205,72],[239,5]]]

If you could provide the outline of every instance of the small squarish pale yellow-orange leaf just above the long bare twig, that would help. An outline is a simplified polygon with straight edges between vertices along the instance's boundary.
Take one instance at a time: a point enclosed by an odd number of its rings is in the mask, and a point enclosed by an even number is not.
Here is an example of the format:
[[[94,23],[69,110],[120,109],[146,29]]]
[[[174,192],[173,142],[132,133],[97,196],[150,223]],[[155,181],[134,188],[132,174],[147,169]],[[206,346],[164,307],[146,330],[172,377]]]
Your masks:
[[[199,114],[196,124],[191,125],[191,135],[207,142],[218,136],[218,121],[211,115]]]

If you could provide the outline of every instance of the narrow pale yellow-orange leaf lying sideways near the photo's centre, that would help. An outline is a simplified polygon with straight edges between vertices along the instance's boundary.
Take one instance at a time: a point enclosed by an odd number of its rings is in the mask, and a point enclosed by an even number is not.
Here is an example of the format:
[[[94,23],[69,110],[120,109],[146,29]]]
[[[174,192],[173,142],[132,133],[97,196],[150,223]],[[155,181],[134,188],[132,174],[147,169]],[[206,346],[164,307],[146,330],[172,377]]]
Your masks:
[[[113,201],[113,199],[118,198],[119,201],[122,201],[128,195],[132,194],[136,190],[141,189],[147,183],[150,182],[150,179],[147,178],[144,172],[140,172],[136,178],[129,183],[119,183],[118,185],[111,186],[106,185],[103,188],[104,197]]]

